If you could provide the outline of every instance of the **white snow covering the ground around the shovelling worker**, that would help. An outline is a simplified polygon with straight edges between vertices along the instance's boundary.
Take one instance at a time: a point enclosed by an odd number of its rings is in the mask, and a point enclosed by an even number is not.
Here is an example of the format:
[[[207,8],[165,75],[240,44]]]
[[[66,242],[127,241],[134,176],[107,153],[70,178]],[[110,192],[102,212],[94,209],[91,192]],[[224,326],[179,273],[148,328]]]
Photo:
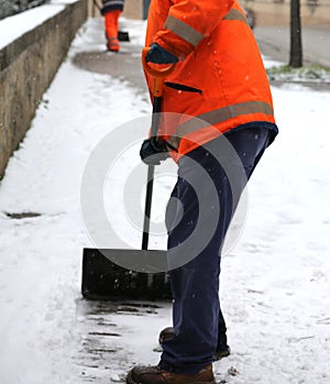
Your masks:
[[[99,23],[81,28],[69,58],[103,50]],[[144,22],[125,26],[142,47]],[[330,89],[288,84],[273,96],[280,134],[249,186],[244,232],[223,257],[232,354],[215,371],[218,382],[231,384],[328,384]],[[169,325],[169,304],[87,303],[79,292],[81,249],[91,245],[80,215],[84,168],[111,130],[132,127],[132,142],[140,140],[147,128],[134,121],[150,111],[141,89],[70,59],[44,95],[0,185],[1,383],[111,383],[135,363],[157,363],[153,349]],[[118,178],[138,163],[136,153],[125,151]],[[160,185],[154,201],[164,207],[170,189],[164,179]],[[121,186],[112,188],[120,198]],[[122,221],[124,215],[114,224],[125,228]],[[130,239],[129,229],[124,234]]]

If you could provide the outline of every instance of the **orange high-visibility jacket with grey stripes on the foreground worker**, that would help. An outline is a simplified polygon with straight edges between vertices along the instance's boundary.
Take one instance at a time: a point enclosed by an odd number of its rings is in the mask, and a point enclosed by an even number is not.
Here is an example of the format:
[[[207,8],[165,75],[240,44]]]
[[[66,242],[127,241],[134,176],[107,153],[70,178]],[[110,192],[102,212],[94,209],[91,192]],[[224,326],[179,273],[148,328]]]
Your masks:
[[[160,127],[176,158],[241,124],[275,123],[261,54],[238,1],[152,0],[145,45],[152,43],[179,58],[165,79]]]

